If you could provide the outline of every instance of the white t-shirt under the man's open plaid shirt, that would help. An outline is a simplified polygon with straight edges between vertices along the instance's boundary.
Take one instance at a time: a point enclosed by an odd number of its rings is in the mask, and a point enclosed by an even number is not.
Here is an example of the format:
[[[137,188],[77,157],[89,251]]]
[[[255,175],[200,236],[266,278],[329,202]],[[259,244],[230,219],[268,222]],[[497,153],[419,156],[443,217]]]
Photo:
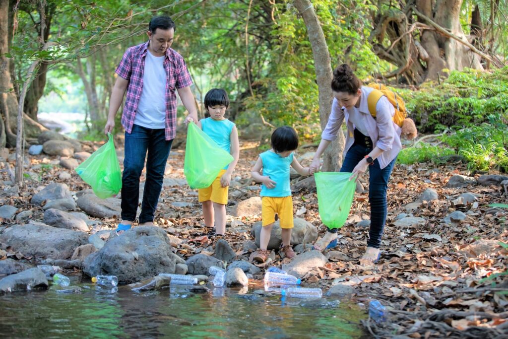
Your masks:
[[[166,127],[166,71],[164,58],[146,51],[143,90],[134,124],[150,129]]]

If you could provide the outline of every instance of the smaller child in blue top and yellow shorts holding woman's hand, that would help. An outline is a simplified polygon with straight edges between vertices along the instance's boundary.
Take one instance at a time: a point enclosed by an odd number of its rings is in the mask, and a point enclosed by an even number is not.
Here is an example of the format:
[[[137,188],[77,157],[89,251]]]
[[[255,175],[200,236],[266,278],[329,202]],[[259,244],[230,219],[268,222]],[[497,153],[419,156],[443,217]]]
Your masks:
[[[282,244],[279,253],[293,258],[295,252],[291,247],[291,229],[293,228],[293,198],[290,187],[290,166],[300,175],[309,175],[308,167],[302,167],[293,155],[298,147],[298,135],[289,126],[277,128],[272,133],[272,149],[259,155],[252,168],[252,178],[262,182],[261,215],[263,227],[260,235],[260,249],[252,257],[253,260],[265,262],[270,251],[267,250],[273,223],[280,219]],[[263,173],[261,173],[263,172]]]

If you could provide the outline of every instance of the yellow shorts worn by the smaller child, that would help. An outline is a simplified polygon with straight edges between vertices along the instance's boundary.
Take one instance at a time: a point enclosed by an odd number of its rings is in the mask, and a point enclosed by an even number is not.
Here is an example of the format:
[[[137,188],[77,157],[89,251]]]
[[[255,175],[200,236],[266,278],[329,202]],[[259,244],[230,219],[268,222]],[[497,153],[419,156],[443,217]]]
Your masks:
[[[293,228],[293,198],[291,196],[261,198],[263,226],[275,222],[275,213],[278,214],[280,228]]]

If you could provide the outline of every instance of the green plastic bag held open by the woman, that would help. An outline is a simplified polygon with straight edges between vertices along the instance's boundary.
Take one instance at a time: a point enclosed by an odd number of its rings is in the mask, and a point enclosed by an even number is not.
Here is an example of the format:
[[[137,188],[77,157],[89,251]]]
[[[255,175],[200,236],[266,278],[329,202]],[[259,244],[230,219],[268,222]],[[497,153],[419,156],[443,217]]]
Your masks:
[[[319,214],[328,228],[341,228],[347,220],[356,190],[355,180],[349,180],[351,175],[347,172],[314,174]]]

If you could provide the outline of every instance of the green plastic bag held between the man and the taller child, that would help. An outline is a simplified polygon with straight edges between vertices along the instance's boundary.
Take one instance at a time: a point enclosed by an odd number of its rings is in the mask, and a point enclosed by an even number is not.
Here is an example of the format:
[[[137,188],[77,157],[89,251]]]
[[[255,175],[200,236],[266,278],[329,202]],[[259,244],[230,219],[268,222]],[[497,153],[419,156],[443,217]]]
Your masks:
[[[233,161],[233,157],[220,148],[194,122],[190,122],[185,145],[183,174],[192,189],[205,189],[220,170]]]

